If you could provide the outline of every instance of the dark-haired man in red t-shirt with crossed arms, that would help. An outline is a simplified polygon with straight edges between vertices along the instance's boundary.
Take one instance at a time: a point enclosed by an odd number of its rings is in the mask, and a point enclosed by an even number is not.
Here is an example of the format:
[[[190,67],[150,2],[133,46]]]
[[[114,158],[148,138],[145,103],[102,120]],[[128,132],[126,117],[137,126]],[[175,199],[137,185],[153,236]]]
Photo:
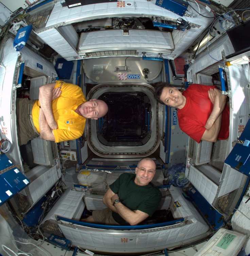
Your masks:
[[[198,143],[215,142],[229,136],[229,107],[227,96],[216,86],[192,84],[180,92],[168,83],[156,83],[155,99],[176,107],[180,129]]]

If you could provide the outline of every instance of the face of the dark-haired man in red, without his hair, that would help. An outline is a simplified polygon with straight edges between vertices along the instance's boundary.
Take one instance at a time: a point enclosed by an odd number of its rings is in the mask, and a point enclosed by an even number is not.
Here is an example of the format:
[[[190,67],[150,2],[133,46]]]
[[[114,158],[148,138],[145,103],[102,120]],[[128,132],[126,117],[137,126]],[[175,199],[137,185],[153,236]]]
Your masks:
[[[186,98],[182,93],[174,87],[164,87],[160,96],[160,100],[170,107],[181,109],[185,106]]]

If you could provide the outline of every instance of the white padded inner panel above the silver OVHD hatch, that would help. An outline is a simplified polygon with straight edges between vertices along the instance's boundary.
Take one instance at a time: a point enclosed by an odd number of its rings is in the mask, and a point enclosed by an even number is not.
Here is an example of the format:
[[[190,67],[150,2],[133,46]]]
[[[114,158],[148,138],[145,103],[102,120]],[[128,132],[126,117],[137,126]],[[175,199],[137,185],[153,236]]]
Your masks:
[[[82,33],[78,50],[88,51],[92,49],[131,48],[146,49],[153,46],[165,52],[173,49],[174,44],[171,33],[149,30],[129,30],[129,35],[123,35],[123,30],[93,31]]]

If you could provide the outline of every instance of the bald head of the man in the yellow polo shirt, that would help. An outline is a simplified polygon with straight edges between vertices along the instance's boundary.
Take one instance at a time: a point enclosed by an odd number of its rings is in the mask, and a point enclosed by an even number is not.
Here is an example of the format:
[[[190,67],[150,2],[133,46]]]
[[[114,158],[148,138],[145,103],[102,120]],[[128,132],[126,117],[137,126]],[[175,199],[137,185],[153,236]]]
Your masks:
[[[92,99],[79,105],[75,112],[86,118],[98,119],[107,114],[108,106],[102,100]]]

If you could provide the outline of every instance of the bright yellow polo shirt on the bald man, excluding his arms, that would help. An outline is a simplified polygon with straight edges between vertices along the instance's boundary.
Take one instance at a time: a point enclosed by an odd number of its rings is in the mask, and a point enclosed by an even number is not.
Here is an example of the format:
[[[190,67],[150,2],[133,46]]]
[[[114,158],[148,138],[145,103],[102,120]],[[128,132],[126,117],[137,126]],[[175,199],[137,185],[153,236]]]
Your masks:
[[[86,102],[82,89],[73,84],[56,81],[54,88],[60,87],[61,95],[52,101],[52,112],[58,128],[53,130],[55,142],[78,139],[84,132],[86,118],[79,116],[74,110]],[[39,101],[32,108],[32,119],[37,131],[39,129]]]

